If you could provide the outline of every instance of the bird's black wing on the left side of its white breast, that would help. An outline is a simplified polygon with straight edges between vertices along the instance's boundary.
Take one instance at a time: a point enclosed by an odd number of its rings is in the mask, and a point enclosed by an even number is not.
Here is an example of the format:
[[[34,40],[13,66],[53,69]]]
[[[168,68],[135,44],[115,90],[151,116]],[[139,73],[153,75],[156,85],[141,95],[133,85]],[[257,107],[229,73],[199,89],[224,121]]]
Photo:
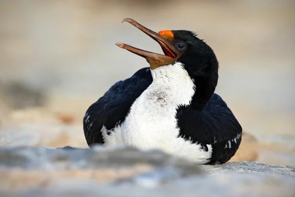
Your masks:
[[[132,103],[151,84],[148,67],[142,68],[128,79],[115,83],[101,98],[93,103],[83,119],[84,135],[88,145],[104,143],[100,130],[112,130],[123,122]]]

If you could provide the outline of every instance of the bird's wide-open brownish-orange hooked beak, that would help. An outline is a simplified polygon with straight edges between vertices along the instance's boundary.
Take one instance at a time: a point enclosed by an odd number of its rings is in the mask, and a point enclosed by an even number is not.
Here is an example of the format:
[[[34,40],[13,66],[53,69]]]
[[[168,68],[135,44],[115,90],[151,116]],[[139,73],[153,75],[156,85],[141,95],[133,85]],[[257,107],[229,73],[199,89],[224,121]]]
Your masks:
[[[121,48],[126,49],[136,55],[146,58],[148,63],[150,64],[150,66],[152,66],[151,64],[153,64],[153,65],[156,64],[154,66],[159,67],[159,66],[172,64],[176,61],[176,58],[178,57],[177,50],[175,49],[174,45],[171,44],[168,40],[163,38],[158,33],[155,33],[153,31],[149,30],[148,28],[142,26],[141,24],[137,23],[133,19],[125,18],[122,21],[122,23],[125,21],[132,24],[133,26],[135,26],[136,28],[138,28],[142,32],[146,33],[149,37],[151,37],[152,39],[157,41],[160,44],[165,55],[145,51],[145,50],[130,46],[128,44],[120,43],[120,42],[116,43],[116,45],[118,47],[121,47]]]

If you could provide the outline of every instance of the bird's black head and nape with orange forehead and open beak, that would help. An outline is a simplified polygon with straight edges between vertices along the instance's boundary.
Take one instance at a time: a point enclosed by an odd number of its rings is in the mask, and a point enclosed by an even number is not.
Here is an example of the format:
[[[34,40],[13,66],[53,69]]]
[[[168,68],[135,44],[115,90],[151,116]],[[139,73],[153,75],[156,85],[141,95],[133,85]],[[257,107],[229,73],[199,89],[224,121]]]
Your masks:
[[[213,95],[218,81],[218,61],[213,50],[190,31],[165,30],[155,33],[133,19],[126,18],[124,21],[131,23],[157,41],[165,55],[138,49],[124,43],[117,43],[117,45],[144,57],[150,69],[173,65],[176,62],[182,63],[196,87],[192,103],[196,105],[195,108],[202,109]]]

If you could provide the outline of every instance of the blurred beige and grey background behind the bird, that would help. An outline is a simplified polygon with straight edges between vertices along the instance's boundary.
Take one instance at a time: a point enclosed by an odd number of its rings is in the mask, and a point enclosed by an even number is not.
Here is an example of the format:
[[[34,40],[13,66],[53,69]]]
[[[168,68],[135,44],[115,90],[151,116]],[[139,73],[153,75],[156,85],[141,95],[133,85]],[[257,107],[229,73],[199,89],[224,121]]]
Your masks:
[[[148,66],[116,42],[162,53],[122,19],[191,30],[219,60],[216,93],[259,146],[295,165],[294,0],[0,0],[0,145],[87,147],[82,119]],[[251,148],[251,147],[249,147]]]

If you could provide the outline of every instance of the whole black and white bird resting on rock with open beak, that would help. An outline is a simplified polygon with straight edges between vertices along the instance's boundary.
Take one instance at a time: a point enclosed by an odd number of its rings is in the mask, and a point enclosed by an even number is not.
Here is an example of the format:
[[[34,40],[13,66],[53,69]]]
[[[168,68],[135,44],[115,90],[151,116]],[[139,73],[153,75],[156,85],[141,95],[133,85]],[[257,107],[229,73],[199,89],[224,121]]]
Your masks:
[[[118,81],[89,107],[83,121],[88,145],[161,149],[196,164],[229,161],[242,128],[214,94],[218,61],[213,50],[190,31],[155,33],[133,19],[124,21],[157,41],[165,55],[116,44],[144,57],[150,67]]]

